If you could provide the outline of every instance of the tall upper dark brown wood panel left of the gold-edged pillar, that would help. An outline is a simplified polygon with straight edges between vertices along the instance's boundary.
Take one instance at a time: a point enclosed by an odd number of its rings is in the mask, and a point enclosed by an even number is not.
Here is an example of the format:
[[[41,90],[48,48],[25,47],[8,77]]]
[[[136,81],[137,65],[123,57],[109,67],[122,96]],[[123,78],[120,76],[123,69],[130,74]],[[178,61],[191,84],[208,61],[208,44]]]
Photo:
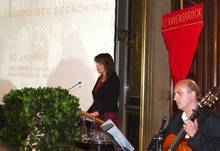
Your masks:
[[[130,1],[130,96],[140,96],[142,1]]]

